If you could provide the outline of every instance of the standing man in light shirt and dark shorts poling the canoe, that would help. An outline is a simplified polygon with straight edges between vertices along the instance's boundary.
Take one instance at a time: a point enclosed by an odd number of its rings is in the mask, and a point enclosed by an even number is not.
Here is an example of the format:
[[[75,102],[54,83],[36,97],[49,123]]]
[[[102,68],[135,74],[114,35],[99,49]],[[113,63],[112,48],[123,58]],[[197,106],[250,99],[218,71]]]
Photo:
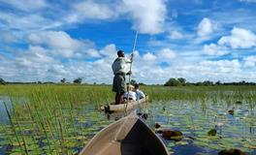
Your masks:
[[[129,71],[128,64],[133,61],[133,54],[131,55],[131,59],[126,59],[123,50],[118,50],[117,56],[112,63],[112,72],[114,75],[112,91],[115,92],[115,105],[121,104],[123,101],[123,94],[126,92],[125,76],[132,74]]]

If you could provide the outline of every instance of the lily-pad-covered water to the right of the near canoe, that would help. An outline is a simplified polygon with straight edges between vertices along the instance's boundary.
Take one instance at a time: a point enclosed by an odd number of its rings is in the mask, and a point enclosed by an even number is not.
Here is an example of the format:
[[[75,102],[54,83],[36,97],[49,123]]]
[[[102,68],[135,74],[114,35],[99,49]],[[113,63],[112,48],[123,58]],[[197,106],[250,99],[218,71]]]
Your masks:
[[[235,114],[228,110],[235,106]],[[184,138],[181,141],[164,140],[174,154],[217,154],[225,148],[240,148],[249,154],[256,154],[255,109],[249,105],[232,105],[188,102],[156,102],[150,104],[151,118],[147,124],[155,122],[162,128],[179,130]],[[208,131],[216,129],[215,137],[208,137]],[[253,147],[253,148],[252,148]]]

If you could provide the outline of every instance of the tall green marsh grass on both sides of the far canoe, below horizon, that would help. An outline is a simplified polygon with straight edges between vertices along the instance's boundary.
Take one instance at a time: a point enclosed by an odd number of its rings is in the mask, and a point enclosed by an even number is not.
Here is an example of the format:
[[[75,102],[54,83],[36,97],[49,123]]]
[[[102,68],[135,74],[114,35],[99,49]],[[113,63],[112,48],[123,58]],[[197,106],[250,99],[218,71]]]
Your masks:
[[[181,103],[190,104],[191,109],[200,105],[206,115],[209,105],[228,109],[240,101],[248,105],[250,113],[256,105],[255,86],[142,86],[142,89],[157,103],[179,102],[177,107],[172,107],[178,112],[184,109]],[[108,85],[0,85],[0,97],[10,99],[4,104],[9,124],[2,124],[0,128],[0,133],[4,133],[3,143],[12,148],[7,151],[21,154],[78,153],[94,134],[113,121],[106,120],[98,111],[101,105],[113,101],[111,90]],[[162,105],[156,104],[155,109],[162,109]],[[166,124],[178,125],[169,112],[170,109],[166,109]],[[196,135],[201,127],[194,122],[193,112],[185,116],[185,121]],[[245,123],[251,124],[253,120],[248,118]]]

